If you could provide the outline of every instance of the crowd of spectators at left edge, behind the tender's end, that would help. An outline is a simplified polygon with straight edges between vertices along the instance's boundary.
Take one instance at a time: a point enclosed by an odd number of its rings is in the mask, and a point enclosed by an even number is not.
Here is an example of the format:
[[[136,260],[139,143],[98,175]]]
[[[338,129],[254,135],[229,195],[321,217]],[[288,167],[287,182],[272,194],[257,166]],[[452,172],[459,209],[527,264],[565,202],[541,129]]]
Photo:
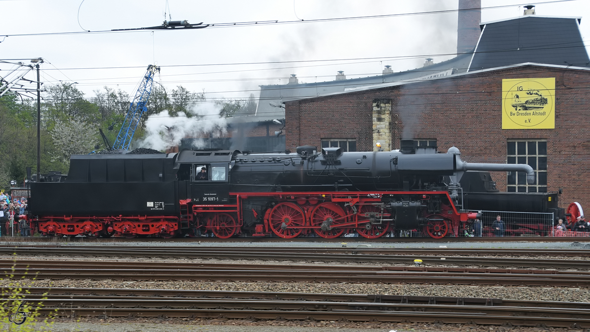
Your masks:
[[[0,236],[31,236],[31,227],[18,216],[27,211],[27,198],[13,198],[10,194],[0,193]]]

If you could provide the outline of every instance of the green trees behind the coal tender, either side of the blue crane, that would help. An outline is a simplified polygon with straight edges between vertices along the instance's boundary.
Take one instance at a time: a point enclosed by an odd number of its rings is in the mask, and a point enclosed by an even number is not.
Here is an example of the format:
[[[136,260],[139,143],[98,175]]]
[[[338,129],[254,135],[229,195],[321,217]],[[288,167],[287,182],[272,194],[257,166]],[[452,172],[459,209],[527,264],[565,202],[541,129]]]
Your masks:
[[[103,87],[94,90],[93,97],[86,98],[69,83],[45,86],[45,90],[41,104],[42,174],[48,171],[67,173],[70,154],[87,154],[97,144],[103,147],[99,128],[110,144],[114,143],[129,111],[129,94]],[[192,104],[204,99],[203,93],[189,92],[183,86],[177,86],[168,94],[155,84],[148,112],[142,115],[134,141],[145,135],[143,126],[148,115],[168,110],[171,115],[183,112],[192,116]],[[27,167],[37,172],[37,101],[21,99],[16,94],[5,95],[0,98],[0,188],[9,187],[11,180],[22,183]]]

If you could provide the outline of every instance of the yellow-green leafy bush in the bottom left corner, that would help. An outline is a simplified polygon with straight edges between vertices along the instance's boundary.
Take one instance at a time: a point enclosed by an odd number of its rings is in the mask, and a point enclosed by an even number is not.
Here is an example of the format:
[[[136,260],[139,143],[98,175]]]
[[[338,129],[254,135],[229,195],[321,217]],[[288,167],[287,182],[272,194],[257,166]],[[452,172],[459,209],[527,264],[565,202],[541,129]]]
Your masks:
[[[22,288],[18,279],[15,279],[16,266],[17,256],[15,254],[11,271],[5,272],[5,278],[0,278],[0,280],[8,279],[8,285],[2,287],[2,299],[0,300],[0,322],[2,322],[3,330],[50,331],[57,309],[47,316],[41,317],[41,308],[43,307],[43,301],[47,300],[47,293],[42,294],[41,298],[38,299],[39,301],[27,300],[27,298],[32,297],[31,292]],[[21,278],[25,279],[27,274],[28,269]],[[36,276],[32,278],[32,283],[34,283],[35,279]],[[22,324],[15,324],[15,322],[22,322]]]

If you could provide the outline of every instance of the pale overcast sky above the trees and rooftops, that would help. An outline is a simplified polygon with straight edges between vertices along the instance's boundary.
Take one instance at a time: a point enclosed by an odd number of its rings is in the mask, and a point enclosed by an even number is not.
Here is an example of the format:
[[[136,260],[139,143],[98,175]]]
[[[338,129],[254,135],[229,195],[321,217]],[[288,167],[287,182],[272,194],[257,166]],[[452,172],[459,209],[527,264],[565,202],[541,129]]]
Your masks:
[[[481,2],[483,8],[510,5],[483,9],[483,22],[520,16],[527,4]],[[582,17],[582,37],[590,36],[590,1],[542,2],[532,3],[537,4],[537,15]],[[0,59],[42,57],[48,61],[41,66],[45,84],[78,82],[87,97],[103,86],[134,95],[148,64],[162,67],[156,80],[166,89],[182,84],[192,92],[205,92],[210,100],[247,97],[258,95],[261,84],[287,83],[290,74],[297,74],[299,82],[321,82],[333,80],[338,70],[352,78],[380,74],[385,65],[395,71],[421,67],[429,56],[435,62],[447,60],[452,56],[435,55],[456,52],[457,6],[457,0],[0,0]],[[166,19],[171,15],[172,20],[193,24],[221,24],[444,10],[451,12],[186,31],[18,36],[153,27],[162,24],[165,12]],[[2,76],[9,66],[0,69]]]

